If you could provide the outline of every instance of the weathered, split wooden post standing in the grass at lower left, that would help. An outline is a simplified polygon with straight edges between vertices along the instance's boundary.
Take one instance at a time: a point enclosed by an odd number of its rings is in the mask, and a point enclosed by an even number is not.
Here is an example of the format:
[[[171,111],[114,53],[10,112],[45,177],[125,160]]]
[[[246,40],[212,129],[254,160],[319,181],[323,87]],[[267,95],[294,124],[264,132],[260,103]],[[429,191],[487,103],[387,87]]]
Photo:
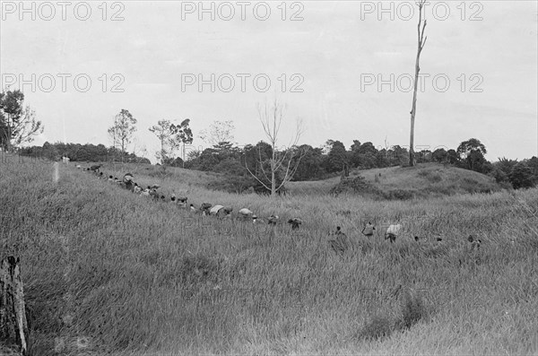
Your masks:
[[[0,340],[24,355],[28,350],[28,324],[19,263],[19,258],[8,256],[0,264]]]

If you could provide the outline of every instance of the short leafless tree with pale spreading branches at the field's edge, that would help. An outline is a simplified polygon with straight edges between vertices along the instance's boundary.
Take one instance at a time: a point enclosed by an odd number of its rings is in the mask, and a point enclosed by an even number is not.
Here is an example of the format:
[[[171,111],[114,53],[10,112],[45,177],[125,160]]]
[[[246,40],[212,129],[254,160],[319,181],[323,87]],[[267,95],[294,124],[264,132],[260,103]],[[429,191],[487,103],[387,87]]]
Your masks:
[[[258,103],[257,111],[258,118],[264,127],[265,137],[267,137],[272,151],[269,174],[265,171],[261,153],[259,155],[257,165],[259,166],[265,179],[271,182],[271,187],[265,184],[248,168],[247,161],[245,161],[245,167],[252,177],[256,178],[256,180],[262,186],[264,186],[265,189],[271,192],[271,197],[273,198],[276,192],[279,191],[279,189],[281,189],[287,182],[289,182],[291,178],[293,178],[293,175],[299,167],[300,160],[306,154],[306,152],[297,148],[297,143],[299,143],[300,136],[303,134],[304,130],[302,128],[302,121],[298,119],[295,134],[291,139],[288,149],[279,152],[277,142],[282,125],[282,118],[284,117],[284,106],[275,98],[272,105],[267,105],[267,103],[265,103],[265,105],[262,107]],[[282,182],[277,187],[276,178],[279,171],[283,171],[283,178]]]

